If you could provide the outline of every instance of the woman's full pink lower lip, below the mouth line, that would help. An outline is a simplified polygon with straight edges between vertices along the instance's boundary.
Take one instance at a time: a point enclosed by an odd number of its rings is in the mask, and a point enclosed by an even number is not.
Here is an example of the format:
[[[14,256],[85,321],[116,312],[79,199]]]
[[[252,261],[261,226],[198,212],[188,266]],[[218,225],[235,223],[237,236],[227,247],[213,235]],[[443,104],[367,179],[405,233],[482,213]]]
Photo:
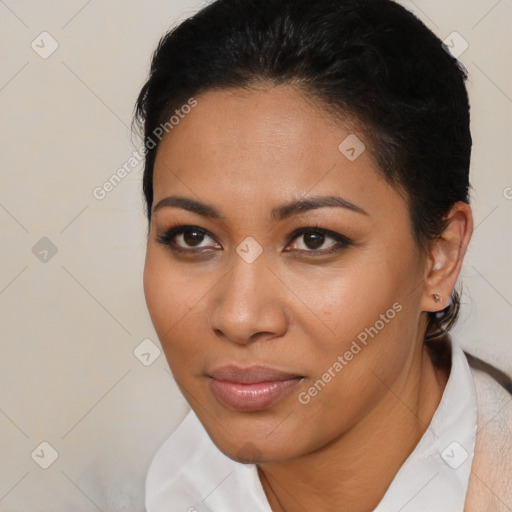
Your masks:
[[[254,384],[240,384],[211,377],[209,380],[213,394],[223,405],[235,411],[253,412],[267,409],[284,398],[302,377]]]

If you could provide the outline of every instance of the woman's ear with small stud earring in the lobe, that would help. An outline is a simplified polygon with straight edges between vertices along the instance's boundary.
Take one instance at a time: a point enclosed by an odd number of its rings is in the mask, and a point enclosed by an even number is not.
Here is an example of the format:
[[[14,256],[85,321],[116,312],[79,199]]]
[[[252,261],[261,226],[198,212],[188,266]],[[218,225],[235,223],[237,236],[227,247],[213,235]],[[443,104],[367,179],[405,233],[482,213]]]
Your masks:
[[[459,201],[450,210],[446,227],[429,252],[422,311],[441,311],[449,306],[472,234],[471,207]]]

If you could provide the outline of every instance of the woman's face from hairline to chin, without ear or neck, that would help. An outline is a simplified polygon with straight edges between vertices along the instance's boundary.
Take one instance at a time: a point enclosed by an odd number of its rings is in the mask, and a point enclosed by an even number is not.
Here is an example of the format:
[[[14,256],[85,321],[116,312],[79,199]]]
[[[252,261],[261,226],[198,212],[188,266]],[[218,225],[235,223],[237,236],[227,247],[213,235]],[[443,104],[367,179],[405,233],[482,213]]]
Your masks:
[[[386,412],[421,346],[426,260],[361,142],[279,86],[204,93],[160,143],[147,305],[235,460],[299,457]]]

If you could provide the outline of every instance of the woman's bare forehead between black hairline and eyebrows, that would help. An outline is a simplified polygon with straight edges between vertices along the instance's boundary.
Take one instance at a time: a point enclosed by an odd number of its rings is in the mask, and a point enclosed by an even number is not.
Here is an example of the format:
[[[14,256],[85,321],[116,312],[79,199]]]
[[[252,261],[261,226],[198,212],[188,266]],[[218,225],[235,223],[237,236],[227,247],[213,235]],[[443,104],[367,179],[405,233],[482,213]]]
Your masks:
[[[357,124],[335,122],[296,88],[209,91],[196,100],[160,143],[155,203],[174,192],[246,210],[308,193],[335,192],[367,211],[376,199],[381,207],[397,201]]]

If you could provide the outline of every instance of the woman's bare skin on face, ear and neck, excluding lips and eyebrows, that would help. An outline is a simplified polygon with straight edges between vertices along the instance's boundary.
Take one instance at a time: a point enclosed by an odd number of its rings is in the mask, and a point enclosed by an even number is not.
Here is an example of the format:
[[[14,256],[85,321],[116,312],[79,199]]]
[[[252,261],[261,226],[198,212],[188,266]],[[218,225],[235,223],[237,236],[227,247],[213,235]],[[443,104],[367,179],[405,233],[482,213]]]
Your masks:
[[[144,291],[170,369],[218,448],[258,464],[274,512],[372,510],[425,432],[448,378],[423,346],[424,312],[446,305],[471,237],[471,209],[454,205],[443,237],[422,254],[407,204],[378,174],[369,141],[355,161],[338,149],[351,133],[365,140],[357,124],[332,122],[289,85],[209,91],[197,101],[160,144],[153,206],[180,195],[224,219],[154,211]],[[270,218],[272,208],[316,195],[342,197],[367,215],[324,207]],[[189,252],[173,252],[157,236],[176,225],[210,235],[177,235]],[[336,241],[291,238],[315,226],[353,244],[319,255]],[[236,252],[249,236],[263,249],[253,263]],[[299,393],[395,303],[400,312],[300,403]],[[237,412],[208,385],[208,373],[226,364],[269,365],[304,379],[266,410]]]

